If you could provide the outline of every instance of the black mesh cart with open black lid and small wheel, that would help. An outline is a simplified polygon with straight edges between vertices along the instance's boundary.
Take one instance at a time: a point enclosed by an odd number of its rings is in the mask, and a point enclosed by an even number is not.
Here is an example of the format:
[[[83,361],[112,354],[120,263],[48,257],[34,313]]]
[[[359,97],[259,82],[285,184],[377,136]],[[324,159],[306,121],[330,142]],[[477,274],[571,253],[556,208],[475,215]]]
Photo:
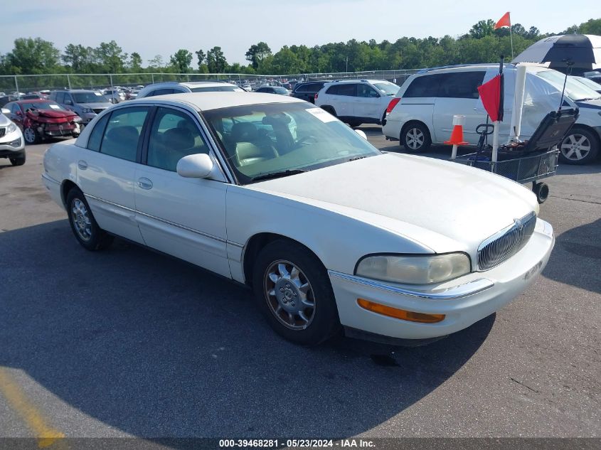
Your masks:
[[[487,138],[493,132],[492,124],[480,124],[476,132],[480,135],[475,153],[452,159],[459,164],[481,168],[518,183],[532,182],[532,191],[538,203],[544,203],[549,187],[538,180],[555,175],[558,167],[558,146],[578,119],[578,108],[562,109],[546,115],[531,139],[525,142],[499,146],[497,161],[492,161],[491,147]]]

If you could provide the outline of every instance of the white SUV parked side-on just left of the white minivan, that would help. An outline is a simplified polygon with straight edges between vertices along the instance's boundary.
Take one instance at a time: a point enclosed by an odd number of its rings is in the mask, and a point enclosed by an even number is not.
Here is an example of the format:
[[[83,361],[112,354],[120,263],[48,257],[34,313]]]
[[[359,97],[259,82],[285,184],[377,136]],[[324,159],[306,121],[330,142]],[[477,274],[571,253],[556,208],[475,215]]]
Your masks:
[[[315,105],[351,127],[381,124],[390,97],[399,87],[385,80],[341,80],[329,82],[315,95]]]

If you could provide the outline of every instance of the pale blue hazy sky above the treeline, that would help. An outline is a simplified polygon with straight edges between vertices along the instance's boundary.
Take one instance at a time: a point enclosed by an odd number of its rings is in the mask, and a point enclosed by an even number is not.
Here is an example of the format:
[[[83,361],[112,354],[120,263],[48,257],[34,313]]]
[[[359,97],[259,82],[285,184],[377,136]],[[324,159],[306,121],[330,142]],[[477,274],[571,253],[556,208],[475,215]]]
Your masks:
[[[542,32],[601,17],[595,0],[5,0],[0,16],[0,53],[19,37],[40,37],[63,50],[69,43],[97,46],[115,40],[137,51],[144,64],[179,48],[191,52],[220,45],[229,63],[246,63],[251,44],[321,45],[351,38],[380,42],[403,36],[459,36],[477,21],[501,18]],[[196,65],[196,56],[193,60]]]

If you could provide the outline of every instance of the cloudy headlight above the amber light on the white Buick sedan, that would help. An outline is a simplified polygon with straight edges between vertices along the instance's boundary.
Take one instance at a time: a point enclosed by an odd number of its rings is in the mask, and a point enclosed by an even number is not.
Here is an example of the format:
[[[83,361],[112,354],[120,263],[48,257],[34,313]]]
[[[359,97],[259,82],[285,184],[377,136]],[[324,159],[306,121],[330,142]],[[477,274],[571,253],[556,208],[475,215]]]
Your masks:
[[[403,284],[432,284],[461,277],[472,271],[469,256],[374,255],[361,259],[355,274],[359,277]]]

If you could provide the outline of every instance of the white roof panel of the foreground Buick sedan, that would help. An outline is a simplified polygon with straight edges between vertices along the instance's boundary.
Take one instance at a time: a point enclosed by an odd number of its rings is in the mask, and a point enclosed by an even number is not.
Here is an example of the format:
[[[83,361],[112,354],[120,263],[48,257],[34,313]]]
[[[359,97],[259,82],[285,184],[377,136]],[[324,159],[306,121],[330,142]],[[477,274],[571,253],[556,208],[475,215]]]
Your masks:
[[[229,108],[246,105],[263,105],[265,103],[295,103],[303,102],[294,97],[284,95],[262,94],[260,92],[184,92],[181,94],[156,95],[130,100],[129,105],[137,103],[169,100],[170,102],[186,103],[199,111]]]

